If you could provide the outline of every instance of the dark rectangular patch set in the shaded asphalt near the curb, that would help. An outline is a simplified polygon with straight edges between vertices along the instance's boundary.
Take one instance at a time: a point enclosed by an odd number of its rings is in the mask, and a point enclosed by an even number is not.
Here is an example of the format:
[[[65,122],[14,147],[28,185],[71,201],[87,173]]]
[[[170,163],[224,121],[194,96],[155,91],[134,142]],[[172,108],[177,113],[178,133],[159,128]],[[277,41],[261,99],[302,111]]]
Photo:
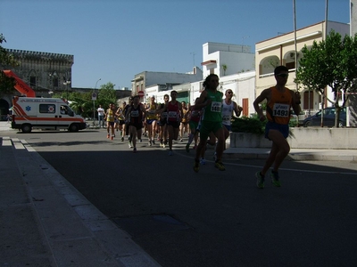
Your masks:
[[[191,229],[186,223],[181,223],[167,214],[115,218],[112,221],[118,224],[121,229],[127,231],[132,237]]]

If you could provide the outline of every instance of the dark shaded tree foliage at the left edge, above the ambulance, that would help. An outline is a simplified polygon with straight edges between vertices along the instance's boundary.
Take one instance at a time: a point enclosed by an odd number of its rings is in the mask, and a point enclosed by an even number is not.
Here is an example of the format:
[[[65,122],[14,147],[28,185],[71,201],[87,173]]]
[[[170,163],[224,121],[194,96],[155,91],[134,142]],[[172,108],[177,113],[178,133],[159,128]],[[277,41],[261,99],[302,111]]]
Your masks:
[[[6,40],[3,34],[0,34],[0,94],[13,93],[13,86],[16,84],[15,79],[5,76],[2,70],[4,70],[5,67],[19,66],[19,62],[15,61],[13,55],[8,53],[1,45],[3,43],[6,43]]]

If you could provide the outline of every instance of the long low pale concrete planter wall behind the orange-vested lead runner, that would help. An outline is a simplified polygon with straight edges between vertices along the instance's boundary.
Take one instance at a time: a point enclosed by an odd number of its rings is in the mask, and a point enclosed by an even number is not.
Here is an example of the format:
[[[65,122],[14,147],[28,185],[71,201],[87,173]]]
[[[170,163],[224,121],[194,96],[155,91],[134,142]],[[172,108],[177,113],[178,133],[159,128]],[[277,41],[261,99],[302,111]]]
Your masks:
[[[357,150],[357,128],[290,128],[292,149]],[[230,133],[231,148],[270,148],[264,134]]]

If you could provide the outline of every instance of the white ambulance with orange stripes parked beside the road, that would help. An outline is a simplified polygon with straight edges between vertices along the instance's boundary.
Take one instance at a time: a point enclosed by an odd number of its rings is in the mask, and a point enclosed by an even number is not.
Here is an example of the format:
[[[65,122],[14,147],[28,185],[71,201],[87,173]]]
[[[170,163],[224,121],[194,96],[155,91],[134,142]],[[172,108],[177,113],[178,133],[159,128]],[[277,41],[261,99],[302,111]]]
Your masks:
[[[86,121],[62,99],[14,96],[12,129],[19,129],[22,133],[30,133],[32,129],[78,132],[86,129]]]

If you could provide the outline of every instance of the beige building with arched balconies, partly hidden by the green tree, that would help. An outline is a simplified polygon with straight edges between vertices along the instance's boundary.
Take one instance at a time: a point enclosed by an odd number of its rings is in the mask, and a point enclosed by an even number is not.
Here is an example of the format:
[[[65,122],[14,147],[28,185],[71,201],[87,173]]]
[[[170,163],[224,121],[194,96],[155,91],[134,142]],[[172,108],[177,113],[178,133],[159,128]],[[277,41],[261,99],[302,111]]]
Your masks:
[[[334,29],[341,36],[349,35],[350,27],[348,24],[325,21],[311,25],[306,28],[296,30],[296,55],[297,62],[302,57],[304,45],[308,47],[313,41],[320,42],[325,39],[326,33]],[[297,63],[298,64],[298,63]],[[303,85],[295,85],[295,32],[286,33],[255,45],[255,65],[256,65],[256,95],[262,93],[262,90],[276,85],[274,69],[278,65],[284,65],[289,69],[289,77],[286,87],[293,90],[299,90],[302,95],[303,110],[317,110],[321,108],[321,98],[319,93],[309,92]],[[297,67],[299,67],[297,65]],[[327,90],[327,93],[330,93]],[[333,95],[328,95],[333,98]]]

